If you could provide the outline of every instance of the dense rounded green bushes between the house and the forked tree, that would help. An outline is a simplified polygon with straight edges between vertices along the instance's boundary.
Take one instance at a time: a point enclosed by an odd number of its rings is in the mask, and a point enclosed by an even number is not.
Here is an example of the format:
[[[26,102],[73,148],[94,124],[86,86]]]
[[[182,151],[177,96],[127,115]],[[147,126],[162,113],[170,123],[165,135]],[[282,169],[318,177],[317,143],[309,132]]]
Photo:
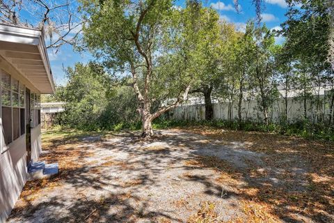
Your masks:
[[[67,78],[66,86],[56,93],[58,100],[66,102],[56,123],[79,130],[136,128],[136,98],[131,88],[115,82],[94,63],[77,63],[67,69]]]

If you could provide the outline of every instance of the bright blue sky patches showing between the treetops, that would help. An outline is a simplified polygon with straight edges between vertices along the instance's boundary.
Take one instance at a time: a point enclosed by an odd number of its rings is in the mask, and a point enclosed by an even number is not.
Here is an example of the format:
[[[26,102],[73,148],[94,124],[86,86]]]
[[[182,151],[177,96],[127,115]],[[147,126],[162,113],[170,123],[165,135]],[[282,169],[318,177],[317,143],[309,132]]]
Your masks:
[[[239,0],[241,9],[239,13],[234,9],[233,0],[203,0],[203,2],[205,6],[215,8],[221,18],[235,23],[239,29],[245,26],[247,20],[255,17],[255,6],[253,6],[251,0]],[[182,7],[185,5],[184,0],[176,0],[175,4]],[[285,21],[286,11],[285,0],[267,0],[262,10],[262,22],[267,24],[270,29],[279,29],[280,24]],[[276,43],[280,44],[282,42],[283,38],[276,38]],[[50,49],[49,59],[56,84],[65,84],[63,67],[74,66],[74,63],[77,62],[86,63],[92,57],[88,52],[79,54],[79,52],[74,51],[72,46],[63,45],[57,53]]]

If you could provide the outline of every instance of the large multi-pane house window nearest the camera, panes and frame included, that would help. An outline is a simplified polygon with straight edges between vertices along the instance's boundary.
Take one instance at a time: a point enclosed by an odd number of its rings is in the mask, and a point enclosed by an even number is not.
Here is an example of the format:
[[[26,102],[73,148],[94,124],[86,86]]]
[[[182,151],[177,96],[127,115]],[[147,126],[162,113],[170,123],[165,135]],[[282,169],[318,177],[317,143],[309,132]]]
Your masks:
[[[25,133],[24,100],[25,86],[17,79],[0,70],[1,75],[1,150]],[[23,121],[23,125],[22,125]]]

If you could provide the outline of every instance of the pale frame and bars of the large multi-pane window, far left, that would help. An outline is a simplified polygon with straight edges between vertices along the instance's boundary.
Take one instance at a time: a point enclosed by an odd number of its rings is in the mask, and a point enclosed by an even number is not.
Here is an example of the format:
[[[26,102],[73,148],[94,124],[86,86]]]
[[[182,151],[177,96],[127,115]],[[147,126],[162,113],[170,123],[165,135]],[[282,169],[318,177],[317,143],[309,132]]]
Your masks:
[[[3,122],[2,122],[2,118],[3,118],[3,114],[2,114],[2,89],[3,89],[3,84],[2,84],[2,75],[3,74],[6,74],[10,77],[10,89],[7,89],[7,88],[4,88],[8,91],[10,91],[10,106],[8,105],[5,105],[4,107],[9,107],[10,108],[10,112],[11,112],[11,123],[12,123],[12,131],[11,131],[11,138],[12,138],[12,141],[10,141],[10,143],[8,145],[5,144],[5,141],[4,141],[4,132],[3,132]],[[15,142],[17,141],[18,139],[20,139],[21,137],[23,137],[25,134],[26,134],[26,125],[24,123],[24,133],[21,134],[21,112],[20,112],[20,109],[24,109],[24,122],[26,120],[26,115],[25,115],[25,110],[26,110],[26,86],[20,82],[18,79],[15,79],[15,81],[17,81],[17,91],[14,91],[13,90],[13,80],[15,78],[12,77],[12,75],[10,75],[10,73],[6,72],[5,70],[1,69],[0,68],[0,117],[1,117],[1,130],[0,130],[0,153],[5,153],[6,151],[8,151],[8,149],[10,148],[10,146]],[[23,92],[23,96],[24,96],[24,104],[21,105],[21,95],[22,95],[22,92],[21,92],[21,87],[23,87],[24,89],[24,92]],[[17,106],[14,106],[13,105],[13,92],[17,93],[18,95],[18,105]],[[18,109],[19,111],[19,137],[17,137],[16,139],[14,139],[14,118],[13,118],[13,109],[16,108]]]

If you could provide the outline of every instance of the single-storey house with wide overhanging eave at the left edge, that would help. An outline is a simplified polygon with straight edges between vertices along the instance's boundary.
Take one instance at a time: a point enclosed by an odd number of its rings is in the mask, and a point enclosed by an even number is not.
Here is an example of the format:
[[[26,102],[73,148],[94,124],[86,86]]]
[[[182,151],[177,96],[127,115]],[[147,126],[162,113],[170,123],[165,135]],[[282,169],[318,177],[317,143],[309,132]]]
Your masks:
[[[0,222],[13,209],[41,151],[40,94],[54,93],[44,33],[0,24]],[[58,167],[57,167],[58,171]]]

